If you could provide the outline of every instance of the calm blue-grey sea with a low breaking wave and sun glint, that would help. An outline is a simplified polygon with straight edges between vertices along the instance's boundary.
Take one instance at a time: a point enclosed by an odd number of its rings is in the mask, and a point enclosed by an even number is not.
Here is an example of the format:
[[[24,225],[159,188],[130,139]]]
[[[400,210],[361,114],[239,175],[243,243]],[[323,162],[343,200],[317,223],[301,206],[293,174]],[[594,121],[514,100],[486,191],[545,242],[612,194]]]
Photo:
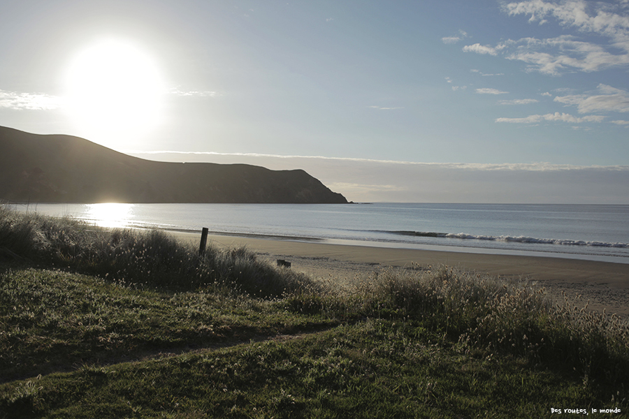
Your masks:
[[[629,263],[629,205],[37,204],[100,226]]]

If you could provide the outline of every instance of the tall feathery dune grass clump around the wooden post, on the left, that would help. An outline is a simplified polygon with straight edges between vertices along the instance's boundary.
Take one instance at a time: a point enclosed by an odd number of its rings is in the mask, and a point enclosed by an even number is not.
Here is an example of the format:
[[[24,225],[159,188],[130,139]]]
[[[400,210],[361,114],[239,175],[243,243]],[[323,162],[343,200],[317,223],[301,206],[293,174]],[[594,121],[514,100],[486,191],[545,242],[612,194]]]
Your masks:
[[[245,248],[199,255],[161,230],[108,230],[68,217],[0,208],[0,257],[52,264],[113,281],[194,291],[229,289],[275,298],[317,288],[304,275],[279,270]]]

